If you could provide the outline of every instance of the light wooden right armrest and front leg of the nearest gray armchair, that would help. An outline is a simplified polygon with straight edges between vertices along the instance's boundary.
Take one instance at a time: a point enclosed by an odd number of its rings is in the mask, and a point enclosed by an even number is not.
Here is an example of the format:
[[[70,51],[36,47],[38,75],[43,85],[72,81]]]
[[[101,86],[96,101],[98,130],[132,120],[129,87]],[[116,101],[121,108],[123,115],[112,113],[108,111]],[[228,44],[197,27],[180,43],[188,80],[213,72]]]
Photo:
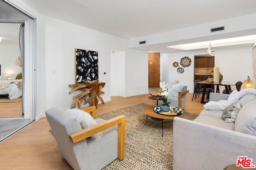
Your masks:
[[[96,133],[104,131],[104,130],[106,130],[110,127],[113,127],[115,125],[118,125],[118,152],[117,152],[117,155],[118,155],[118,159],[122,160],[122,159],[124,159],[124,140],[125,140],[125,116],[124,115],[114,117],[112,119],[106,120],[97,125],[88,127],[86,129],[82,129],[81,131],[77,131],[75,133],[72,133],[69,135],[69,138],[73,143],[77,143],[79,141],[82,141],[83,139],[86,139]]]

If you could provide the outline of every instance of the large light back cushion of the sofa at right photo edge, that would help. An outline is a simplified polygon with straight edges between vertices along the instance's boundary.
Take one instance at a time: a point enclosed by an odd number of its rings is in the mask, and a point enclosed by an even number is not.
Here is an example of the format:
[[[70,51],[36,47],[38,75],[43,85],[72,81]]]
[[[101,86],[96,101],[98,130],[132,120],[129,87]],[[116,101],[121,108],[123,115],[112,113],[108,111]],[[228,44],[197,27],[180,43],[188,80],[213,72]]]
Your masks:
[[[235,131],[256,136],[256,100],[252,100],[240,109],[235,121]]]

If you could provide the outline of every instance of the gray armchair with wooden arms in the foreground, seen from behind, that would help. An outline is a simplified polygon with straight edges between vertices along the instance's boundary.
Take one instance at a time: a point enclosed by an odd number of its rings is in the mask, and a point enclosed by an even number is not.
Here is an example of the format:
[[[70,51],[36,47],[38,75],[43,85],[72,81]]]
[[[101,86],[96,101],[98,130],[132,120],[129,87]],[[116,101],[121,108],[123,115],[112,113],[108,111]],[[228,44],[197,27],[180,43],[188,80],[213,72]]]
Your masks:
[[[96,118],[96,107],[82,108]],[[97,125],[82,129],[78,119],[62,109],[45,111],[54,138],[63,158],[74,170],[100,170],[113,160],[124,159],[125,117],[120,115]],[[118,125],[118,126],[116,126]],[[89,137],[102,131],[102,138]]]

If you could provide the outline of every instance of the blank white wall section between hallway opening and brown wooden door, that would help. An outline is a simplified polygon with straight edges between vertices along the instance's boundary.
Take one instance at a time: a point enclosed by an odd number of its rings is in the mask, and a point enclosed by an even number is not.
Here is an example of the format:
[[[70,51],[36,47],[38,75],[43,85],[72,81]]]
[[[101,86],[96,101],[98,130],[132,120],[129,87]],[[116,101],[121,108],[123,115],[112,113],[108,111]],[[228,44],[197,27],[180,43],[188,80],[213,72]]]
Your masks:
[[[126,51],[126,95],[148,94],[148,51]]]

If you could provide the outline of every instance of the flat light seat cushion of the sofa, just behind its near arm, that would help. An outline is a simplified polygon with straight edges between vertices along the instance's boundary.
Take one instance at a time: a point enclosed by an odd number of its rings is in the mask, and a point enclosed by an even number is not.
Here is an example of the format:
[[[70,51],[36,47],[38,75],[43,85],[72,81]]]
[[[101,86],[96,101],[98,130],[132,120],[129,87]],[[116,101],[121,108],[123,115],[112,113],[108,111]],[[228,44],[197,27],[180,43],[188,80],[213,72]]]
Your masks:
[[[223,119],[199,115],[194,121],[234,131],[234,123],[226,123]]]

